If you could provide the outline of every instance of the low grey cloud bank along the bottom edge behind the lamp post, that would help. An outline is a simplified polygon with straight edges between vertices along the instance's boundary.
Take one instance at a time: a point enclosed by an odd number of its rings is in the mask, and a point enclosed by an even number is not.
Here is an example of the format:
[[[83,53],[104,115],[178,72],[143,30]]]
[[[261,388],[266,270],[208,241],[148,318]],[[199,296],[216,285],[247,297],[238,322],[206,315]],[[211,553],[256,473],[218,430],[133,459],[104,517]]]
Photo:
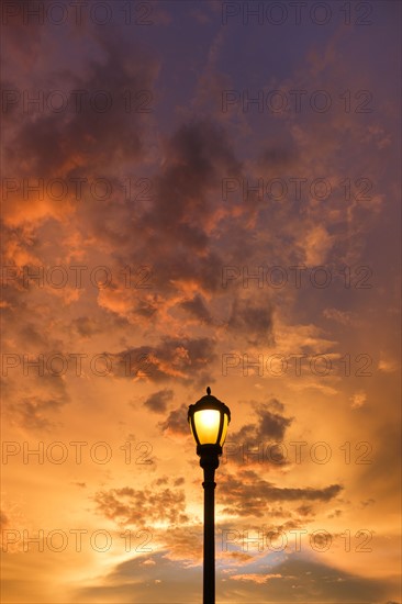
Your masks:
[[[170,532],[169,532],[170,533]],[[146,555],[136,555],[131,560],[118,564],[103,579],[102,584],[78,588],[74,593],[76,602],[82,604],[130,601],[135,593],[141,602],[196,602],[202,585],[202,564],[196,552],[201,552],[201,533],[190,529],[172,530],[175,543],[182,545],[178,556],[171,558],[172,550],[163,549]],[[177,548],[178,550],[178,548]],[[179,557],[180,556],[180,557]],[[330,564],[303,560],[300,555],[289,553],[286,560],[272,562],[258,558],[250,550],[227,552],[231,566],[227,572],[216,571],[216,592],[226,602],[239,602],[239,594],[247,602],[290,602],[289,593],[297,591],[300,602],[383,602],[387,601],[389,583],[380,579],[367,579],[346,572]],[[398,586],[395,585],[398,590]]]

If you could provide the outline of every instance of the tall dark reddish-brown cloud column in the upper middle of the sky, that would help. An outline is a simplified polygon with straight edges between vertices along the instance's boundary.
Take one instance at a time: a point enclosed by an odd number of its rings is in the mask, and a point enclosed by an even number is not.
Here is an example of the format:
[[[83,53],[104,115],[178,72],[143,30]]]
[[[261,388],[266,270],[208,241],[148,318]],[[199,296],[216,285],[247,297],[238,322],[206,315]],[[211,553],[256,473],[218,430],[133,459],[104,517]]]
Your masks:
[[[222,211],[216,198],[222,175],[239,174],[241,164],[225,128],[206,119],[179,126],[164,153],[161,169],[153,177],[153,200],[135,224],[130,221],[130,233],[124,235],[127,253],[138,258],[150,251],[158,291],[176,291],[186,282],[217,291],[222,259],[212,233],[232,210]],[[133,232],[138,237],[133,238]],[[197,295],[186,307],[208,318]]]

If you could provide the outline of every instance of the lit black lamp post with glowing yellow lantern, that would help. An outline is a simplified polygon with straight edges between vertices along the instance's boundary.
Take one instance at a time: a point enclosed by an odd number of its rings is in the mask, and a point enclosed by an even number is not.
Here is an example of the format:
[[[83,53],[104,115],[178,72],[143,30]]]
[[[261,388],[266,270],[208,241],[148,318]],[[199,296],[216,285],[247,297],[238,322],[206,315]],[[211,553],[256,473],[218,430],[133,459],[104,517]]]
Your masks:
[[[231,421],[230,409],[211,394],[189,406],[188,421],[197,443],[197,455],[204,471],[204,569],[203,604],[215,604],[215,469]]]

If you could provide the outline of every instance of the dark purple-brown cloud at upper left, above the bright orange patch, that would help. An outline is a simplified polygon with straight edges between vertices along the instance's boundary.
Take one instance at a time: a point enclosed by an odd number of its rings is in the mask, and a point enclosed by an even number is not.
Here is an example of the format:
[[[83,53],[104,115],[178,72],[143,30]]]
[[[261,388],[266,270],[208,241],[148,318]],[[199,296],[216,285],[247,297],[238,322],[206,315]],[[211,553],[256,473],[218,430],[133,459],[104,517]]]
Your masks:
[[[24,120],[8,147],[12,164],[21,155],[26,158],[27,176],[77,177],[82,169],[86,177],[99,175],[99,171],[105,176],[122,157],[139,157],[143,150],[139,113],[126,111],[124,94],[127,90],[133,94],[139,90],[150,93],[156,65],[144,54],[141,60],[135,60],[133,48],[129,60],[124,57],[121,38],[102,35],[98,36],[97,43],[99,58],[87,64],[86,77],[72,70],[64,71],[60,74],[63,80],[55,86],[68,98],[71,110],[40,113]],[[85,91],[81,105],[77,104],[77,92],[71,90]],[[100,109],[89,102],[100,90],[111,99],[109,110],[102,110],[101,100]]]

